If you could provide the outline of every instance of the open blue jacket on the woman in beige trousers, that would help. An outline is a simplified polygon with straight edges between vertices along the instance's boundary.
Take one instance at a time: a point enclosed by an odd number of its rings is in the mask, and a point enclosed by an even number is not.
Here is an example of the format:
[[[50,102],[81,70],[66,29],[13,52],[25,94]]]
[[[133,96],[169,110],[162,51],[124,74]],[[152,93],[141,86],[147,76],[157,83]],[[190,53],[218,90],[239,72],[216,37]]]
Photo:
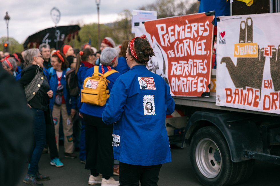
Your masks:
[[[70,68],[67,68],[65,70],[62,71],[62,77],[61,77],[61,85],[63,85],[63,95],[64,95],[64,99],[65,99],[65,104],[66,104],[66,108],[67,108],[67,113],[68,115],[70,115],[71,113],[71,109],[76,109],[75,104],[70,104],[70,95],[67,91],[66,88],[66,72],[70,70]],[[50,85],[50,89],[53,91],[53,97],[50,98],[50,109],[51,111],[53,110],[53,105],[55,102],[55,94],[56,94],[56,90],[57,90],[57,85],[58,85],[58,79],[57,79],[57,75],[56,75],[56,70],[53,69],[53,67],[48,69],[49,71],[49,85]]]

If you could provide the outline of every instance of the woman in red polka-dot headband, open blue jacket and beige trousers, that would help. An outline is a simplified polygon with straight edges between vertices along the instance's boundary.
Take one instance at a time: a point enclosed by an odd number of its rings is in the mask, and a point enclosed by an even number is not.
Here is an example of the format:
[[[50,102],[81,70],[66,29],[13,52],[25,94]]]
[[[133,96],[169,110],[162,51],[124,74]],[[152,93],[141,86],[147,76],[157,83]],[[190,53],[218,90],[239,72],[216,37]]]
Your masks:
[[[66,88],[65,74],[68,68],[68,62],[65,56],[57,50],[51,57],[52,68],[49,69],[49,84],[53,91],[53,98],[50,99],[50,108],[52,111],[53,122],[55,124],[55,137],[57,150],[59,149],[59,123],[62,116],[64,133],[64,152],[65,158],[76,158],[73,154],[73,122],[71,115],[75,115],[75,105],[70,104],[70,95]]]

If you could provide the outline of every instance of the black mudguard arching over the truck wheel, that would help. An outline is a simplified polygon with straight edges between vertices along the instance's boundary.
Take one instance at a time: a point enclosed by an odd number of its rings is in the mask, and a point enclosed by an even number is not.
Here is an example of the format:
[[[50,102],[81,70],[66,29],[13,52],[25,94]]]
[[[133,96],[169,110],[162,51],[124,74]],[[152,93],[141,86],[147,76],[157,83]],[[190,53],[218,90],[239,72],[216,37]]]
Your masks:
[[[221,131],[229,147],[232,162],[249,160],[243,150],[262,152],[263,144],[256,126],[256,115],[221,112],[197,111],[189,119],[184,133],[184,141],[191,142],[192,136],[200,128],[216,126]]]

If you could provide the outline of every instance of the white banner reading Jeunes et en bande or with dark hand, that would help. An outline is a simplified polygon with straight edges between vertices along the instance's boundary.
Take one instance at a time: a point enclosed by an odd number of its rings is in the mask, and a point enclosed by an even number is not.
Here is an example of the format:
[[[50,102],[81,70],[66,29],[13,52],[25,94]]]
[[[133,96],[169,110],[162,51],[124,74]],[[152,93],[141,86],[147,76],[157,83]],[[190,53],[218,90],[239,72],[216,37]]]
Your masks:
[[[280,114],[280,13],[220,17],[216,105]]]

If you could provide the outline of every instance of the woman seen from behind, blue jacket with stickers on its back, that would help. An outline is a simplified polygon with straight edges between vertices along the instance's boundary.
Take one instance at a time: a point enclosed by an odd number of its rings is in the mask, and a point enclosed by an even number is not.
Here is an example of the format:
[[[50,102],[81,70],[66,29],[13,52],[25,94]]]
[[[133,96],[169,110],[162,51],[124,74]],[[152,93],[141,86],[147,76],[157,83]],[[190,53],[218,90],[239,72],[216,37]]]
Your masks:
[[[121,185],[157,185],[162,163],[171,162],[165,116],[173,113],[175,102],[165,80],[147,70],[151,56],[147,40],[130,41],[126,61],[131,70],[115,81],[103,112],[103,122],[114,123],[112,145]]]

